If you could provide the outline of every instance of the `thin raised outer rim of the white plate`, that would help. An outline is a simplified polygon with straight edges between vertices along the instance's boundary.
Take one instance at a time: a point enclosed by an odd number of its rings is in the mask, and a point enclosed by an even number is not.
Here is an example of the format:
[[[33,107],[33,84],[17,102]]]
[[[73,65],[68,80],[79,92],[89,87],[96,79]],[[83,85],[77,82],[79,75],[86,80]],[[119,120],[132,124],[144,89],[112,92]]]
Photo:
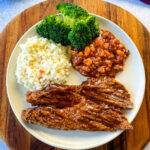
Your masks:
[[[58,14],[59,14],[59,13],[58,13]],[[145,75],[145,68],[144,68],[143,59],[142,59],[142,57],[141,57],[141,55],[140,55],[140,52],[139,52],[137,46],[135,45],[135,43],[132,41],[132,39],[129,37],[129,35],[128,35],[120,26],[118,26],[117,24],[115,24],[115,23],[112,22],[111,20],[109,20],[109,19],[107,19],[107,18],[105,18],[105,17],[102,17],[102,16],[100,16],[100,15],[97,15],[97,14],[94,14],[94,13],[89,13],[89,14],[94,15],[94,16],[96,16],[97,18],[103,19],[103,20],[105,20],[105,21],[107,21],[107,22],[113,24],[116,28],[119,28],[119,30],[121,30],[122,33],[129,39],[129,41],[135,46],[136,52],[137,52],[137,54],[139,55],[139,58],[140,58],[140,60],[141,60],[141,67],[142,67],[141,69],[142,69],[142,73],[143,73],[143,77],[144,77],[144,78],[143,78],[143,88],[142,88],[143,91],[142,91],[142,94],[141,94],[141,101],[139,102],[139,105],[138,105],[138,107],[137,107],[137,111],[136,111],[135,114],[133,115],[133,118],[131,119],[131,121],[129,121],[130,123],[132,123],[133,120],[136,118],[138,112],[139,112],[139,109],[140,109],[140,107],[141,107],[141,105],[142,105],[142,102],[143,102],[143,99],[144,99],[144,94],[145,94],[146,75]],[[15,50],[16,47],[18,46],[19,42],[23,39],[23,37],[24,37],[25,35],[28,34],[28,32],[30,32],[30,30],[32,30],[32,28],[34,28],[34,27],[35,27],[37,24],[39,24],[41,21],[42,21],[42,20],[38,21],[36,24],[34,24],[33,26],[31,26],[31,27],[21,36],[21,38],[17,41],[15,47],[13,48],[13,50],[12,50],[12,52],[11,52],[11,55],[10,55],[10,57],[9,57],[9,61],[8,61],[8,64],[7,64],[7,71],[6,71],[6,91],[7,91],[7,96],[8,96],[9,104],[10,104],[10,106],[11,106],[11,109],[13,110],[13,113],[15,114],[15,117],[17,118],[17,120],[19,121],[19,123],[24,127],[24,129],[25,129],[26,131],[28,131],[29,134],[31,134],[33,137],[35,137],[36,139],[42,141],[42,142],[45,143],[45,144],[48,144],[48,145],[54,146],[54,147],[58,147],[58,148],[63,148],[63,149],[66,149],[66,148],[67,148],[67,149],[68,149],[68,148],[69,148],[69,149],[90,149],[90,148],[94,148],[94,147],[97,147],[97,146],[104,145],[104,144],[106,144],[106,143],[112,141],[113,139],[115,139],[116,137],[118,137],[122,132],[124,132],[124,130],[118,130],[118,131],[116,131],[116,132],[118,132],[118,133],[117,133],[115,136],[113,136],[112,138],[110,138],[109,140],[104,140],[103,144],[98,144],[98,143],[97,143],[97,144],[95,144],[95,145],[92,144],[92,145],[90,145],[90,146],[84,145],[84,146],[82,146],[82,147],[78,147],[78,145],[77,145],[77,146],[75,146],[75,147],[70,147],[70,145],[57,145],[57,144],[55,144],[55,143],[49,143],[49,142],[47,142],[47,141],[41,139],[40,136],[36,137],[36,136],[34,135],[34,133],[32,133],[32,131],[31,131],[29,128],[27,128],[27,127],[25,126],[25,124],[22,123],[20,117],[17,116],[17,114],[15,113],[15,110],[14,110],[14,108],[13,108],[13,105],[12,105],[12,102],[11,102],[11,99],[10,99],[9,89],[8,89],[8,84],[9,84],[9,83],[8,83],[8,70],[9,70],[9,66],[10,66],[10,61],[11,61],[12,56],[13,56],[13,54],[14,54],[14,50]]]

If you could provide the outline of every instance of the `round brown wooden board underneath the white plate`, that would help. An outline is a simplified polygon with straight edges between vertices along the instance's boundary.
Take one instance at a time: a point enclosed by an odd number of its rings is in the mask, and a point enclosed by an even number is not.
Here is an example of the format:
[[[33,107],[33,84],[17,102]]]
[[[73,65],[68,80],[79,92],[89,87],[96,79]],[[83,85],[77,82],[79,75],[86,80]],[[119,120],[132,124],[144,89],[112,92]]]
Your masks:
[[[45,16],[58,13],[55,9],[58,2],[75,3],[90,13],[113,21],[131,37],[139,49],[145,65],[147,85],[144,101],[132,123],[134,130],[125,131],[113,141],[94,149],[141,150],[150,139],[150,34],[129,12],[100,0],[49,0],[39,3],[16,16],[0,34],[0,138],[11,150],[57,149],[32,137],[17,121],[7,98],[6,70],[11,52],[20,37]]]

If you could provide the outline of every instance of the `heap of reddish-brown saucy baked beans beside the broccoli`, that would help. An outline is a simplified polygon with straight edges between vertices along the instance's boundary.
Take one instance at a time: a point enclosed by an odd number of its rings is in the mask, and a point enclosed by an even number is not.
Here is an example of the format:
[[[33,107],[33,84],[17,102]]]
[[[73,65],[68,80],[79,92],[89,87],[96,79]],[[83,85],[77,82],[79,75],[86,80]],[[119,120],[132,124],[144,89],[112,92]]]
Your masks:
[[[71,62],[82,75],[88,77],[111,76],[123,71],[129,50],[111,32],[102,30],[100,36],[83,51],[72,48]]]

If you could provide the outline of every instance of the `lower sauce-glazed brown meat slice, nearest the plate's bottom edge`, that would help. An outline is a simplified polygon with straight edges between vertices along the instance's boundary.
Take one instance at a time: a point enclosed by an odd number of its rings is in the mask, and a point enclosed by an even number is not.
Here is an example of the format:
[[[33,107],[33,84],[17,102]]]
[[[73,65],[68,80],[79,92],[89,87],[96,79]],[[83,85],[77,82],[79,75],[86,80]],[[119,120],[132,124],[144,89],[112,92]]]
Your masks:
[[[62,130],[114,131],[132,129],[120,109],[96,104],[82,98],[81,103],[68,108],[39,106],[23,110],[24,122]]]

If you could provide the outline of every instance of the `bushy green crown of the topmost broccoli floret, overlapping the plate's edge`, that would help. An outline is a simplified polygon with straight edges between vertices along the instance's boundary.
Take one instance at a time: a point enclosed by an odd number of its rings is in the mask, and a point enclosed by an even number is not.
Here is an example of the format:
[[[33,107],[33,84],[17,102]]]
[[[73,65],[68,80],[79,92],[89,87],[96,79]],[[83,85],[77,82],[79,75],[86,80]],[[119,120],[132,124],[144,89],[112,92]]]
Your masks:
[[[69,16],[70,18],[85,18],[89,14],[81,7],[71,4],[71,3],[63,3],[62,5],[58,3],[56,5],[56,9],[59,10],[65,16]]]

